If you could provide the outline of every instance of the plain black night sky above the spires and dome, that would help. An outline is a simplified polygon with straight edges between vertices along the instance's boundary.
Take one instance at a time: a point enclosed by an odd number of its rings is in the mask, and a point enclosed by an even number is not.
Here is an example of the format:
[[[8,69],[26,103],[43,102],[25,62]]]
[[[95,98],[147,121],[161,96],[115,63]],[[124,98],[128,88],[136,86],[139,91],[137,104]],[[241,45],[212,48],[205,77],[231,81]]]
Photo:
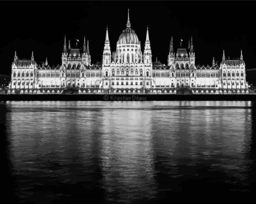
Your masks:
[[[167,64],[171,36],[174,47],[188,47],[193,36],[196,64],[212,64],[222,59],[239,58],[243,49],[246,68],[256,68],[256,2],[1,2],[2,74],[9,74],[15,50],[20,59],[31,58],[40,64],[61,64],[64,35],[82,48],[83,36],[89,39],[92,63],[101,61],[106,26],[111,52],[126,27],[130,9],[131,28],[142,49],[149,26],[152,60]]]

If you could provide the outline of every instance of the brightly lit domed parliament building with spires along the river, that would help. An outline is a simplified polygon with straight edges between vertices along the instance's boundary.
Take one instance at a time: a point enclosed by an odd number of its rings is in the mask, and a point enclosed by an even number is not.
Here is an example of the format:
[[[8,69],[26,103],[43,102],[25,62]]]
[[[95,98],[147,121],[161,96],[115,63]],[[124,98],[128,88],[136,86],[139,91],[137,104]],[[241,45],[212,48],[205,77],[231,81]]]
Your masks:
[[[176,51],[176,52],[175,52]],[[240,52],[239,52],[240,53]],[[187,87],[193,93],[248,93],[245,63],[242,50],[240,58],[226,59],[224,50],[220,64],[200,66],[195,63],[193,39],[188,48],[174,49],[173,38],[167,64],[152,62],[149,30],[146,31],[144,50],[141,41],[131,28],[126,28],[111,53],[106,29],[102,62],[91,64],[89,42],[83,47],[66,45],[64,38],[62,63],[50,66],[37,64],[34,55],[30,60],[20,60],[15,52],[12,63],[10,94],[63,93],[76,89],[77,93],[176,93]]]

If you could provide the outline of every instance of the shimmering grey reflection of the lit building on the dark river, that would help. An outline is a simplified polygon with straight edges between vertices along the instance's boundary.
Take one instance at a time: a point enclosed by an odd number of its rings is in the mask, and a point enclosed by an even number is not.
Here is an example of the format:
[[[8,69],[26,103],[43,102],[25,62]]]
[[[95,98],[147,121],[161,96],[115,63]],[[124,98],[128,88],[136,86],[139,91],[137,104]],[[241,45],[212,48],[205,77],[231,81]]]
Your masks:
[[[250,101],[9,101],[16,194],[49,202],[97,193],[102,202],[134,203],[203,189],[193,182],[210,177],[208,183],[247,190],[250,107]]]

